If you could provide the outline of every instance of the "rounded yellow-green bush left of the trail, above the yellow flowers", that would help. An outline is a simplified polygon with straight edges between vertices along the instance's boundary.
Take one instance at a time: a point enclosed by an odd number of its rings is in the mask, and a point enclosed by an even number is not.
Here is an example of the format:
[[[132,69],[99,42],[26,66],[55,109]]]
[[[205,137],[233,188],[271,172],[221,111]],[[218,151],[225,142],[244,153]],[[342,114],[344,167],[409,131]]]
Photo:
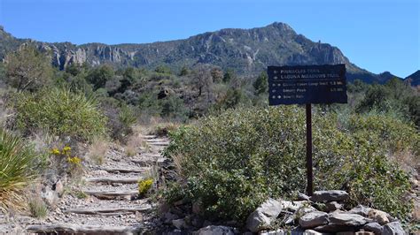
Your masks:
[[[16,96],[17,126],[26,133],[37,129],[60,137],[92,140],[106,133],[106,119],[93,97],[65,88],[43,89]]]

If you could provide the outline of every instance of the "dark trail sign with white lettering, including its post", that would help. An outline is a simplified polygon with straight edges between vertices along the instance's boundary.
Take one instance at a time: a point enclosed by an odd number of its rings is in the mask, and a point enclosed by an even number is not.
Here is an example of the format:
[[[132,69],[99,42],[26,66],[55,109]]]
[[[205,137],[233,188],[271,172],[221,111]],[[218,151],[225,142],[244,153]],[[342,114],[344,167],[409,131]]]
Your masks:
[[[313,193],[311,103],[346,103],[346,65],[268,66],[268,103],[306,104],[307,195]]]

